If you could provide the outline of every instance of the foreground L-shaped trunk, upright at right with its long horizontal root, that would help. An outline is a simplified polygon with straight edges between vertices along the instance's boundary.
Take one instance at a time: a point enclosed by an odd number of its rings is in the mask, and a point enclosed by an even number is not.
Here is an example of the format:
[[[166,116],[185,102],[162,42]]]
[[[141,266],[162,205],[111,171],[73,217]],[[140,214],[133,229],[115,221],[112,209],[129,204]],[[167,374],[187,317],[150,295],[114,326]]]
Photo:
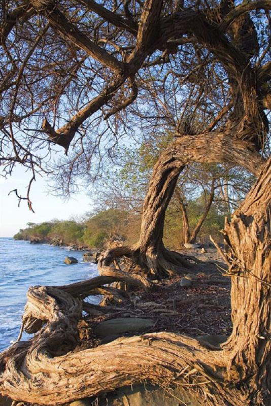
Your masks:
[[[24,329],[37,334],[1,354],[0,393],[53,405],[147,380],[188,387],[210,406],[269,405],[270,161],[225,229],[231,249],[227,261],[233,332],[222,351],[162,332],[71,352],[77,343],[82,299],[114,277],[58,288],[38,286],[28,291],[23,318]],[[126,276],[120,273],[119,278]],[[144,281],[131,276],[128,282]]]

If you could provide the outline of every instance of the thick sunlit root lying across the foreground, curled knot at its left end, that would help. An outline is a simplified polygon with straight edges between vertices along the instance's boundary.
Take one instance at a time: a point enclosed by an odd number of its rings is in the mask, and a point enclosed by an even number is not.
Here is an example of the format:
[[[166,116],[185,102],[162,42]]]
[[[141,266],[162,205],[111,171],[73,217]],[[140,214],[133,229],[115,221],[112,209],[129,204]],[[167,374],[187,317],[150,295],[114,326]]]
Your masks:
[[[24,322],[43,320],[44,327],[27,343],[2,353],[0,391],[15,400],[60,404],[108,392],[134,382],[189,386],[206,404],[225,403],[222,382],[227,359],[196,340],[173,333],[121,338],[81,352],[74,349],[82,304],[53,287],[30,288]],[[27,331],[33,331],[27,327]],[[34,328],[36,331],[36,328]],[[64,355],[62,355],[64,354]],[[229,404],[244,404],[238,391]],[[227,396],[228,397],[228,396]]]

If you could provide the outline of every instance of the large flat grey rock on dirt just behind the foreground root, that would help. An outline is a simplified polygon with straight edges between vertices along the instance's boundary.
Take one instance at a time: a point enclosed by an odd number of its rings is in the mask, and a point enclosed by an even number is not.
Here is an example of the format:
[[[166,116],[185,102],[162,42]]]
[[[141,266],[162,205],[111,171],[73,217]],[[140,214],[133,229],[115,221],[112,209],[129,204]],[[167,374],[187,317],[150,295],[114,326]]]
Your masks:
[[[133,333],[140,330],[147,330],[154,326],[151,319],[142,319],[138,317],[118,317],[116,319],[106,320],[99,323],[94,333],[100,337],[116,335],[123,333]]]

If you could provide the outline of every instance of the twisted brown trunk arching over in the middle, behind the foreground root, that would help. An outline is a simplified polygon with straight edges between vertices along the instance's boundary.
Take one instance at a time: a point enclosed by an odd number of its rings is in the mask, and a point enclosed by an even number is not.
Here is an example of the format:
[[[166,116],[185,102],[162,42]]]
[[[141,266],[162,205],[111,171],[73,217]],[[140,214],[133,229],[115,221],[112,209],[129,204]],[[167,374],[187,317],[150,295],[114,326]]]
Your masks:
[[[262,158],[250,143],[216,131],[179,138],[158,159],[144,201],[139,248],[141,262],[156,276],[183,273],[191,264],[163,245],[163,225],[167,206],[180,173],[190,162],[227,162],[259,174]],[[207,214],[206,214],[207,215]]]

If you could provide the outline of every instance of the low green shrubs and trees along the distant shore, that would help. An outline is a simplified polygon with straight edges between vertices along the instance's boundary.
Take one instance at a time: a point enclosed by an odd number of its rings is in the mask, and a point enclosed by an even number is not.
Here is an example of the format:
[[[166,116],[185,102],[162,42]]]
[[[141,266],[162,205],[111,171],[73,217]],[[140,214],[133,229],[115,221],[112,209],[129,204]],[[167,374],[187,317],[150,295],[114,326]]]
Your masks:
[[[189,224],[193,228],[201,217],[205,207],[204,195],[199,195],[188,202]],[[207,219],[198,233],[198,242],[208,241],[210,233],[219,236],[223,227],[224,214],[220,205],[213,204]],[[128,244],[137,241],[140,233],[141,214],[134,210],[107,209],[91,214],[82,221],[51,220],[43,223],[27,223],[14,235],[15,240],[39,239],[44,243],[61,242],[62,245],[77,245],[88,248],[102,248],[114,236],[122,236]],[[183,220],[180,211],[173,204],[167,211],[164,243],[177,248],[184,243]]]

